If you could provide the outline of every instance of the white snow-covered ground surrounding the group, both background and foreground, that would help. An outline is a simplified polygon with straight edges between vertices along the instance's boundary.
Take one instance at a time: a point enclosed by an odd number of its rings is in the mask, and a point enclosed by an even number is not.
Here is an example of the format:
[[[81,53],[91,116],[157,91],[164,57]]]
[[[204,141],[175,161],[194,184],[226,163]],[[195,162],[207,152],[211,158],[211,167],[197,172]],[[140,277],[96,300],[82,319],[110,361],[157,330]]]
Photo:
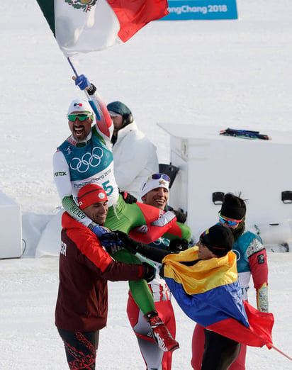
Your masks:
[[[157,122],[291,131],[291,0],[238,0],[237,21],[152,22],[125,45],[82,55],[79,73],[105,101],[121,100],[169,160],[169,138]],[[43,229],[60,207],[52,155],[67,138],[69,102],[84,96],[34,0],[1,7],[0,191]],[[288,163],[291,158],[286,159]],[[208,226],[208,225],[206,225]],[[34,245],[38,232],[24,230]],[[67,369],[54,326],[57,258],[0,260],[0,368]],[[292,356],[291,253],[269,252],[274,345]],[[127,284],[109,283],[108,326],[97,369],[144,369],[125,315]],[[252,303],[254,292],[250,293]],[[173,369],[191,369],[194,323],[177,308]],[[249,348],[247,370],[291,369],[274,349]]]

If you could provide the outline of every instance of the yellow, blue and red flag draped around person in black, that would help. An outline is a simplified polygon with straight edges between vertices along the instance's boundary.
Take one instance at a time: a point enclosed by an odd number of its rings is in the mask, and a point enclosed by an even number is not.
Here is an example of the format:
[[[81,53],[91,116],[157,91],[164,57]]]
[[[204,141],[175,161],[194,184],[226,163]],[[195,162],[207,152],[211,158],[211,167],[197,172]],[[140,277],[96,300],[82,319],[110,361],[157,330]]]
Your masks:
[[[236,255],[198,261],[198,247],[164,257],[164,278],[193,321],[252,347],[269,347],[274,316],[242,301]]]

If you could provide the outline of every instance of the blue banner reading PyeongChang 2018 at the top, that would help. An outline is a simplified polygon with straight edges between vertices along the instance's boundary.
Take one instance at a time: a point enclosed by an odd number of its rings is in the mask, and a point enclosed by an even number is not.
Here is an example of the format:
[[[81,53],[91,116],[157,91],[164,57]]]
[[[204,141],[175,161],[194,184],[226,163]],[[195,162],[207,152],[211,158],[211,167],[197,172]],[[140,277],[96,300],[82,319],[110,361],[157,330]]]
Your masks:
[[[236,0],[168,0],[167,10],[161,21],[238,18]]]

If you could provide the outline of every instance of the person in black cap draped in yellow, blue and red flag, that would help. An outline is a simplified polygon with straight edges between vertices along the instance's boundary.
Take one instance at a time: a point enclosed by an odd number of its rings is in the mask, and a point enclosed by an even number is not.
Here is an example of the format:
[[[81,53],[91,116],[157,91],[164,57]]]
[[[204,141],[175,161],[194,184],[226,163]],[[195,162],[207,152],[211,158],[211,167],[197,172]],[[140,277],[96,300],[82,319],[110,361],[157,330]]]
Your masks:
[[[205,328],[202,370],[227,370],[240,352],[240,343],[272,347],[274,316],[242,301],[230,229],[214,225],[201,234],[195,247],[178,254],[117,234],[132,253],[162,262],[161,275],[177,303]]]

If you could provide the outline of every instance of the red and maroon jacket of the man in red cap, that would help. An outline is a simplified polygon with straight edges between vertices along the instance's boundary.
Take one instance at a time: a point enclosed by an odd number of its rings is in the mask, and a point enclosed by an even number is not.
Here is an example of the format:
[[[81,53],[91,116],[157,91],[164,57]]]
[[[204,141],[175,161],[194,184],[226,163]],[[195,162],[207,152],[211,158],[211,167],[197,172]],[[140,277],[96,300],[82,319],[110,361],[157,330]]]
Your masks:
[[[108,314],[107,280],[140,280],[143,269],[113,260],[96,235],[67,212],[62,228],[55,324],[72,332],[102,329]]]

